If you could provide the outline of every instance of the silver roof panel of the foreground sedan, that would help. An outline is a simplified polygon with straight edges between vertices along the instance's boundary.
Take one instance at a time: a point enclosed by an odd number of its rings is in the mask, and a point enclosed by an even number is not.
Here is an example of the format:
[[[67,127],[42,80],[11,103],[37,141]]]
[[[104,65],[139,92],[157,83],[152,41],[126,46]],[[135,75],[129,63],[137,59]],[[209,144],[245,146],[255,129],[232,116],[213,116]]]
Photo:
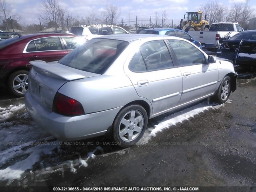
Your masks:
[[[152,39],[152,40],[162,40],[163,38],[168,39],[181,39],[175,36],[162,36],[162,35],[153,35],[153,34],[114,34],[114,35],[104,35],[97,38],[103,39],[115,39],[115,40],[122,40],[122,41],[134,41],[140,39]]]

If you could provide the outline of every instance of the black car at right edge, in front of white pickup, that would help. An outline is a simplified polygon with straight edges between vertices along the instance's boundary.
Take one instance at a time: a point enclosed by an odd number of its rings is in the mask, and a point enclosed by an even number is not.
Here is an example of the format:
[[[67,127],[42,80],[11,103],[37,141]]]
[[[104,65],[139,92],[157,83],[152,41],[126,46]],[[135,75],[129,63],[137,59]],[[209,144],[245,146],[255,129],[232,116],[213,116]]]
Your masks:
[[[223,40],[217,57],[232,60],[236,65],[256,66],[256,30],[243,31]]]

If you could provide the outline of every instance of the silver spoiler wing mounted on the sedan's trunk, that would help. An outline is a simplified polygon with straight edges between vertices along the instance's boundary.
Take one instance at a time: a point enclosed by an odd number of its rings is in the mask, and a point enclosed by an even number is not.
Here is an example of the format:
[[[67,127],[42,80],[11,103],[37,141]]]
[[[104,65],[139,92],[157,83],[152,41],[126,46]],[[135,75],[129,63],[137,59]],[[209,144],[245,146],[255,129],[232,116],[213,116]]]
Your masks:
[[[29,63],[40,70],[46,71],[50,74],[54,74],[68,81],[85,78],[85,76],[83,75],[71,72],[70,70],[67,70],[65,68],[60,68],[54,64],[46,63],[42,60],[30,61]]]

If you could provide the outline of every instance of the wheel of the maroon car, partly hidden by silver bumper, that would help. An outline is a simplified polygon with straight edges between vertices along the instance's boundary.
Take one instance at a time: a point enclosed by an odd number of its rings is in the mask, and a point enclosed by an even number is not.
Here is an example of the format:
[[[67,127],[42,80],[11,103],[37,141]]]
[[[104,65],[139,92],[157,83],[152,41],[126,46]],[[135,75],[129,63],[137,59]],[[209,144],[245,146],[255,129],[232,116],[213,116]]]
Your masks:
[[[28,71],[20,70],[12,73],[8,78],[8,90],[16,97],[23,97],[28,90]],[[19,79],[19,80],[18,80]],[[14,88],[16,86],[16,89]]]

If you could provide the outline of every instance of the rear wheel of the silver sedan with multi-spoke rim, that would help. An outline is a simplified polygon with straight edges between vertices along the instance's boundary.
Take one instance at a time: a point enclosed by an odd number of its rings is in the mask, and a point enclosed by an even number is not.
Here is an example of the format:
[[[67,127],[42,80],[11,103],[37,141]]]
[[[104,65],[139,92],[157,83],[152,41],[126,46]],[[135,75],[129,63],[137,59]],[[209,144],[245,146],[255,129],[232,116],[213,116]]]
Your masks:
[[[113,122],[113,140],[122,148],[130,147],[142,138],[147,124],[148,115],[142,106],[136,104],[127,106],[118,112]]]

